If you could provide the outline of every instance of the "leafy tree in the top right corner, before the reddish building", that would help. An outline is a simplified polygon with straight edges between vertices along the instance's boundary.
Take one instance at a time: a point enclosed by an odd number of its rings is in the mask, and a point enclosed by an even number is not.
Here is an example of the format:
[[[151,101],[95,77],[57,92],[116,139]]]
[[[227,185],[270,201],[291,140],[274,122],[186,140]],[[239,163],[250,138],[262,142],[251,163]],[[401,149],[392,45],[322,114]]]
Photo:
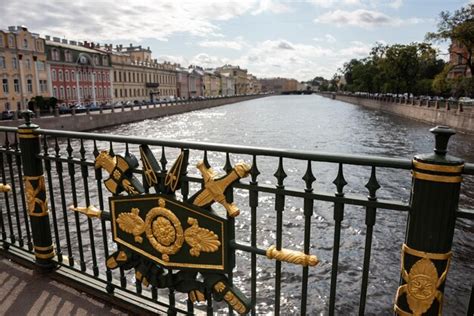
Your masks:
[[[461,52],[454,52],[462,60],[462,64],[470,69],[472,76],[474,76],[474,4],[454,11],[451,14],[448,11],[440,13],[440,20],[438,22],[438,31],[426,34],[426,39],[435,41],[456,41],[462,44],[467,55],[463,56]]]

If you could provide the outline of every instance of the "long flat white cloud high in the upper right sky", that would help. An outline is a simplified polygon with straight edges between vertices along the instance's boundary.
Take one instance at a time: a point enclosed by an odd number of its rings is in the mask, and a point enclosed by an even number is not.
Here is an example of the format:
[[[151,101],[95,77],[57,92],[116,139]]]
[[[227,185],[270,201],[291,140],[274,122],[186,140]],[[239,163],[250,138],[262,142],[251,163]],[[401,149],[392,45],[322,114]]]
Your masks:
[[[358,9],[354,11],[329,11],[314,19],[315,23],[335,24],[337,26],[350,25],[364,28],[418,24],[422,21],[422,19],[418,18],[409,18],[403,20],[398,17],[390,17],[379,11],[365,9]]]

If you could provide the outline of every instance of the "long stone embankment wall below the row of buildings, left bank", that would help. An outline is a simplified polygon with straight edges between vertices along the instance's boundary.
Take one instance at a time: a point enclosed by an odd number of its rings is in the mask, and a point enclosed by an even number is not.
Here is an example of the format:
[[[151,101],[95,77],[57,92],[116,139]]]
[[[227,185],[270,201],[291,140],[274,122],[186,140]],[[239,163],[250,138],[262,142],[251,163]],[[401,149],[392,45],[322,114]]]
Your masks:
[[[224,97],[208,100],[197,100],[190,102],[177,102],[167,104],[142,105],[133,108],[115,108],[104,110],[102,113],[94,111],[81,114],[63,114],[61,116],[44,116],[33,118],[33,123],[43,129],[88,131],[119,124],[142,121],[145,119],[158,118],[168,115],[180,114],[190,111],[202,110],[230,103],[242,102],[264,97],[265,95],[249,95]],[[17,127],[23,120],[0,121],[1,126]]]

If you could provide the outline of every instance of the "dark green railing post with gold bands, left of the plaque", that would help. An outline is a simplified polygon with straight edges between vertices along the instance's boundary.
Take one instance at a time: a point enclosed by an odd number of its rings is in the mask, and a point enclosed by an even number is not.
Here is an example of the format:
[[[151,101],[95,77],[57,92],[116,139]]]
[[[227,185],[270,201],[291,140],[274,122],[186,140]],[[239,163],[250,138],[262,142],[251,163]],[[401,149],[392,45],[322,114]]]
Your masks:
[[[49,225],[46,187],[43,175],[43,164],[37,156],[40,153],[40,139],[33,131],[39,126],[31,123],[32,111],[22,113],[25,124],[18,127],[21,160],[23,162],[23,183],[26,196],[27,211],[33,233],[36,265],[42,270],[55,267],[55,255],[51,228]]]

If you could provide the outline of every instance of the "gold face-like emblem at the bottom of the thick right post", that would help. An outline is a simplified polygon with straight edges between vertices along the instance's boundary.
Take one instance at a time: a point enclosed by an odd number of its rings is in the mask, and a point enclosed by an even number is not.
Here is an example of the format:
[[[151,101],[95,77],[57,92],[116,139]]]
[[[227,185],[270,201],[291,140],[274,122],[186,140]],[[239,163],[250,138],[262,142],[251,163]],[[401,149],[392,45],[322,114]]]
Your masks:
[[[421,258],[411,267],[410,272],[405,270],[405,254]],[[431,260],[447,260],[446,268],[441,277],[438,278],[438,271]],[[402,278],[406,284],[403,284],[397,290],[395,312],[400,315],[411,315],[397,305],[399,298],[406,294],[407,303],[413,315],[421,315],[428,311],[435,299],[439,303],[438,312],[441,315],[443,293],[438,288],[446,280],[450,261],[451,252],[445,254],[422,252],[404,244],[402,250]]]

